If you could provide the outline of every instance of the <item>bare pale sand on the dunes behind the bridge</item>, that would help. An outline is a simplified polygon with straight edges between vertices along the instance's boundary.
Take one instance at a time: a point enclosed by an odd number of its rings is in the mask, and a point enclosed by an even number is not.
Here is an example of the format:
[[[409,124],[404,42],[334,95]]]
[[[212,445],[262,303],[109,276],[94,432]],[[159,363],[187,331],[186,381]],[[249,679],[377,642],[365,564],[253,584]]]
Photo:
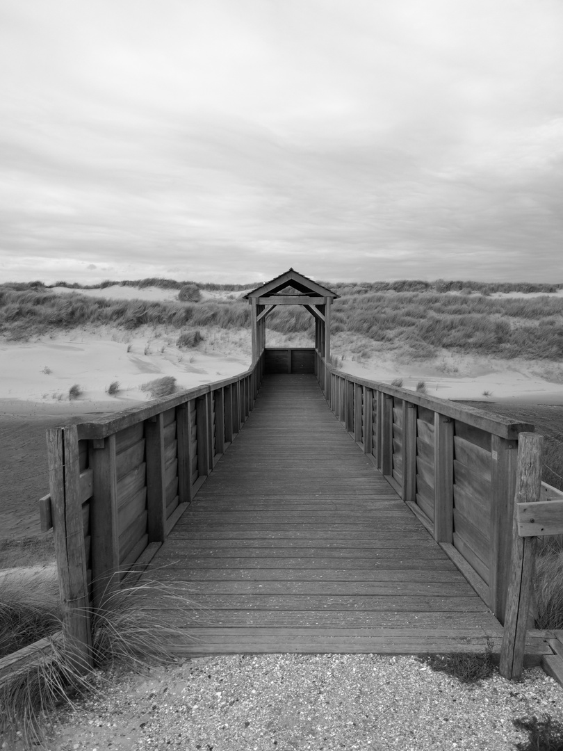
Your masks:
[[[104,289],[69,290],[89,297],[176,300],[177,291],[156,287],[113,285]],[[245,291],[204,291],[208,299],[232,300]],[[501,293],[498,293],[499,295]],[[514,297],[518,293],[510,293]],[[147,399],[141,386],[163,375],[176,378],[178,388],[236,375],[248,368],[249,330],[207,328],[196,348],[179,349],[178,331],[140,327],[127,332],[111,327],[76,329],[41,336],[35,342],[0,342],[0,414],[106,412],[125,409]],[[310,346],[306,336],[268,332],[270,346]],[[361,351],[361,355],[354,352]],[[406,352],[376,351],[373,342],[341,333],[333,336],[333,353],[343,372],[390,383],[402,378],[405,388],[423,380],[427,393],[445,399],[517,400],[563,403],[563,366],[529,360],[475,358],[444,351],[433,360],[414,362]],[[107,394],[119,382],[115,396]],[[69,398],[77,384],[78,399]]]

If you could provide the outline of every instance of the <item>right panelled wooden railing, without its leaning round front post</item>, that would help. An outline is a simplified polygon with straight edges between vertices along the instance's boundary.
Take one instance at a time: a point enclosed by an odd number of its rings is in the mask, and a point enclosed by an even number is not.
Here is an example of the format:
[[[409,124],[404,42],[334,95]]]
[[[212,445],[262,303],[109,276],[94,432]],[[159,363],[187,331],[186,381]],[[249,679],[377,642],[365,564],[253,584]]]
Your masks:
[[[518,435],[534,427],[346,375],[319,355],[316,372],[330,409],[504,623]]]

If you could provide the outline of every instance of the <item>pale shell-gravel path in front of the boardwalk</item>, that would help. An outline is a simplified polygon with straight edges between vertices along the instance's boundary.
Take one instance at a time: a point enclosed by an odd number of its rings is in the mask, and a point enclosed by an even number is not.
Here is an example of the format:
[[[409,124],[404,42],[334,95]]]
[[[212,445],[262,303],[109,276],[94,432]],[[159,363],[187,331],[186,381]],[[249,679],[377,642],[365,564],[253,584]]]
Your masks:
[[[191,659],[116,677],[50,731],[50,751],[423,751],[514,749],[513,720],[563,722],[563,691],[540,668],[474,685],[412,656]]]

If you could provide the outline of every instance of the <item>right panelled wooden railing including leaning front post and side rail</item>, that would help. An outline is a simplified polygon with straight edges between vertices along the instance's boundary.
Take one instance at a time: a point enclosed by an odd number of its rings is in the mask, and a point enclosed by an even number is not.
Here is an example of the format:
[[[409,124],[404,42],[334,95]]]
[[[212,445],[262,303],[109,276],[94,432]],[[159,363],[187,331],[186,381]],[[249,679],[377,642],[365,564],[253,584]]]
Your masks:
[[[535,541],[563,534],[563,493],[540,479],[542,437],[527,423],[346,375],[319,353],[315,373],[332,412],[504,625],[500,671],[519,679]],[[555,641],[542,664],[563,685]]]

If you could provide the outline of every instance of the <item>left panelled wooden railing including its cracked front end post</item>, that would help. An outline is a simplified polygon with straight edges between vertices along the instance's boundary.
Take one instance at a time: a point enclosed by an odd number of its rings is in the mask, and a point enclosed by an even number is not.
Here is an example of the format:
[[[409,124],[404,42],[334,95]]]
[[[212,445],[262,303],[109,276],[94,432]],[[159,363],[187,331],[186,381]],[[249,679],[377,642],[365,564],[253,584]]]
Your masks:
[[[263,356],[232,379],[47,432],[65,640],[89,665],[90,620],[108,587],[146,566],[254,406]]]

